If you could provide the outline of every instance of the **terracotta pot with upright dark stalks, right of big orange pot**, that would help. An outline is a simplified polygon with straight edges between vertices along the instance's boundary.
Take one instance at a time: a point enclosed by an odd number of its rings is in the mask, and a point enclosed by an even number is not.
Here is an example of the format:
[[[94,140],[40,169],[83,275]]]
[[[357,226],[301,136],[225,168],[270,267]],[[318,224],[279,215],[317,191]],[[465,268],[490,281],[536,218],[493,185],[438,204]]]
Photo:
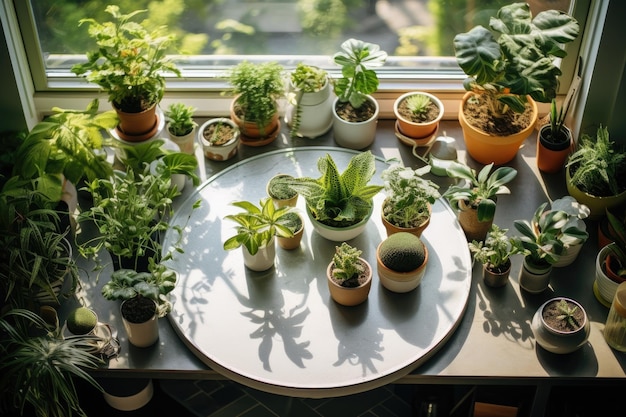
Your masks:
[[[554,174],[559,172],[573,145],[572,131],[565,126],[568,108],[557,108],[556,99],[552,99],[549,123],[539,128],[537,134],[537,168],[541,172]]]

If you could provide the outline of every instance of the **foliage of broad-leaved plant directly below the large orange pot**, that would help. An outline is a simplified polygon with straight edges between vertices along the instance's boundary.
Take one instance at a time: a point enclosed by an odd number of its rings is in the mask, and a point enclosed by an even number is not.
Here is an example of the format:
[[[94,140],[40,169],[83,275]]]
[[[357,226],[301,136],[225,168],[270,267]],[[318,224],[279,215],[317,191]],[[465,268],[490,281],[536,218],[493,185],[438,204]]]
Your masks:
[[[511,167],[499,167],[491,172],[493,163],[485,165],[478,174],[476,170],[460,162],[452,162],[446,169],[449,177],[464,180],[464,184],[451,185],[443,194],[450,202],[466,201],[469,206],[477,209],[478,220],[492,220],[496,212],[494,197],[509,194],[505,184],[517,175]]]

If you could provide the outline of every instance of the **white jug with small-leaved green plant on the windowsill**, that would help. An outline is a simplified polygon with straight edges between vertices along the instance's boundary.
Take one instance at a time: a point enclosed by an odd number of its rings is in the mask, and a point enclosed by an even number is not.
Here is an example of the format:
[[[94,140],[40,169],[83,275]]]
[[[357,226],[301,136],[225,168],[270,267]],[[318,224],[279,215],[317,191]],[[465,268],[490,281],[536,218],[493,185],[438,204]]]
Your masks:
[[[323,135],[333,123],[328,73],[322,68],[299,62],[289,80],[291,108],[287,120],[291,137],[315,138]]]

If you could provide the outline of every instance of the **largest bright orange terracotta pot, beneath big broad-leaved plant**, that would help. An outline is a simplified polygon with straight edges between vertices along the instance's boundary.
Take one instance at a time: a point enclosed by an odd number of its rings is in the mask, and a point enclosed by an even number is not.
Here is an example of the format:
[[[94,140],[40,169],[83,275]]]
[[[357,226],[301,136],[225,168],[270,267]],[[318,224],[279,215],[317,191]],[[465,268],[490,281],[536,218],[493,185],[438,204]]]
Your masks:
[[[467,123],[465,115],[463,114],[463,108],[467,100],[473,95],[472,92],[467,92],[463,96],[461,105],[459,106],[459,123],[463,129],[463,138],[465,140],[465,147],[467,153],[476,161],[482,164],[495,163],[496,165],[502,165],[517,155],[524,140],[530,135],[535,128],[537,122],[537,103],[528,97],[528,102],[533,108],[533,117],[527,128],[511,136],[491,136]]]

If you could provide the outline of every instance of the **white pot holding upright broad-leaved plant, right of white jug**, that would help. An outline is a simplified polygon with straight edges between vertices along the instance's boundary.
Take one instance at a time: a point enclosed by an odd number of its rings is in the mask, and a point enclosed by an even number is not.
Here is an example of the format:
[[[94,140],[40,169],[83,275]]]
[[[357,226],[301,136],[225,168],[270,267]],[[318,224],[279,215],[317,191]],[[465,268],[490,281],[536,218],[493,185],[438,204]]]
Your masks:
[[[368,96],[368,99],[376,106],[374,116],[369,120],[359,123],[351,123],[343,120],[337,115],[335,106],[339,101],[335,98],[332,106],[333,114],[333,136],[335,142],[343,148],[361,150],[367,148],[374,142],[376,137],[376,126],[378,125],[378,112],[380,110],[378,102],[374,97]]]

